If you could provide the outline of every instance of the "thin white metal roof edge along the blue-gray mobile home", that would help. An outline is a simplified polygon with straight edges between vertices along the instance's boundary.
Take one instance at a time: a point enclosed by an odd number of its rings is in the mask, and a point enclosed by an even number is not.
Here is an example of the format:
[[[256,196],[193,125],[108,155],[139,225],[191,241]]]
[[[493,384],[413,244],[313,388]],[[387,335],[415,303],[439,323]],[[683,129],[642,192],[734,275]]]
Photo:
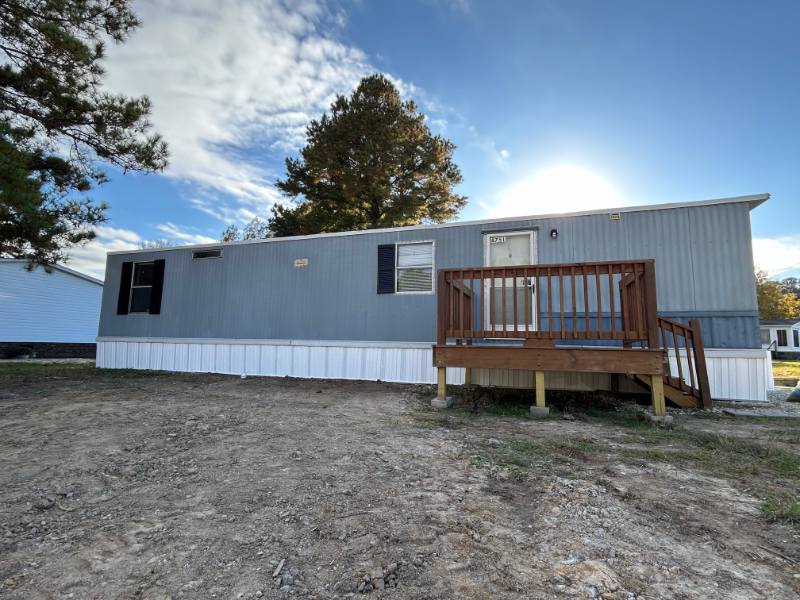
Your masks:
[[[714,200],[696,200],[693,202],[673,202],[667,204],[649,204],[640,206],[620,206],[616,208],[599,208],[594,210],[578,211],[572,213],[548,213],[543,215],[523,215],[518,217],[497,217],[493,219],[481,219],[477,221],[452,221],[449,223],[434,223],[432,225],[412,225],[409,227],[387,227],[385,229],[359,229],[357,231],[337,231],[335,233],[316,233],[313,235],[298,235],[293,237],[265,238],[261,240],[243,240],[239,242],[212,242],[208,244],[190,244],[186,246],[172,246],[170,248],[145,248],[141,250],[117,250],[108,252],[107,256],[116,254],[141,254],[143,252],[169,252],[170,250],[187,250],[197,248],[213,248],[225,246],[239,246],[244,244],[267,244],[273,242],[287,242],[310,240],[322,237],[342,237],[348,235],[364,235],[371,233],[392,233],[398,231],[424,231],[427,229],[444,229],[447,227],[468,227],[471,225],[489,225],[496,223],[513,223],[515,221],[537,221],[540,219],[564,219],[570,217],[588,217],[592,215],[604,215],[608,213],[630,213],[644,212],[649,210],[669,210],[673,208],[693,208],[701,206],[712,206],[715,204],[734,204],[747,202],[750,210],[760,206],[769,200],[769,194],[751,194],[748,196],[734,196],[731,198],[717,198]]]

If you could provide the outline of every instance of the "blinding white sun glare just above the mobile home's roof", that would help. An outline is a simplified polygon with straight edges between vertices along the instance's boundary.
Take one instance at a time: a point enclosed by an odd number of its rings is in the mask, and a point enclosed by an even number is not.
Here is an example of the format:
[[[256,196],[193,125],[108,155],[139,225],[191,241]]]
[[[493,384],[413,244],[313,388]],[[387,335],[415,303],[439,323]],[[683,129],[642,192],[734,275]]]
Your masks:
[[[614,187],[599,175],[573,166],[552,167],[518,183],[487,207],[493,216],[566,213],[623,204]]]

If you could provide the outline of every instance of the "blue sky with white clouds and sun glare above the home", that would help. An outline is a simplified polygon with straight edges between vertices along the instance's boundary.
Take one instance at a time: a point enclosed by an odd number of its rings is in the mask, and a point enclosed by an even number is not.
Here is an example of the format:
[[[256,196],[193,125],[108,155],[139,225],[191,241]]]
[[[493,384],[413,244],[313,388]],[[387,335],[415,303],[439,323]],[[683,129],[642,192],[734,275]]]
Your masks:
[[[71,266],[203,243],[281,199],[304,128],[385,72],[458,147],[461,220],[761,192],[756,261],[800,275],[800,3],[174,0],[109,48],[107,87],[153,100],[162,175],[110,171]],[[794,218],[792,218],[794,217]]]

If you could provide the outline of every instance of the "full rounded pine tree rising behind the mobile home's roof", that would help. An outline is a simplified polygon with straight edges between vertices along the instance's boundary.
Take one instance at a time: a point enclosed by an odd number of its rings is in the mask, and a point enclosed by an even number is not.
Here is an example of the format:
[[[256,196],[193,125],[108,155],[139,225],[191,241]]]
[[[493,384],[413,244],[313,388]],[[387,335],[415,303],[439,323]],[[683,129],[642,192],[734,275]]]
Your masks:
[[[417,105],[382,74],[338,96],[306,138],[276,183],[294,202],[273,208],[275,236],[442,223],[466,205],[453,193],[462,180],[455,146],[431,135]]]

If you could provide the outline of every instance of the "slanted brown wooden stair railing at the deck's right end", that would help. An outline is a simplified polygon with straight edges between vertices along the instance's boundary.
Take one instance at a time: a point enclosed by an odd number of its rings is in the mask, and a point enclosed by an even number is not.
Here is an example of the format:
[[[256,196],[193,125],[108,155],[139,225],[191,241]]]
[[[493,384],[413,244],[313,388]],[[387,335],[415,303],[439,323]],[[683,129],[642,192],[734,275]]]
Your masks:
[[[693,319],[687,326],[659,317],[658,327],[661,330],[663,347],[675,350],[675,362],[670,357],[670,374],[664,378],[664,382],[684,394],[699,398],[703,408],[711,408],[711,390],[700,321]]]

